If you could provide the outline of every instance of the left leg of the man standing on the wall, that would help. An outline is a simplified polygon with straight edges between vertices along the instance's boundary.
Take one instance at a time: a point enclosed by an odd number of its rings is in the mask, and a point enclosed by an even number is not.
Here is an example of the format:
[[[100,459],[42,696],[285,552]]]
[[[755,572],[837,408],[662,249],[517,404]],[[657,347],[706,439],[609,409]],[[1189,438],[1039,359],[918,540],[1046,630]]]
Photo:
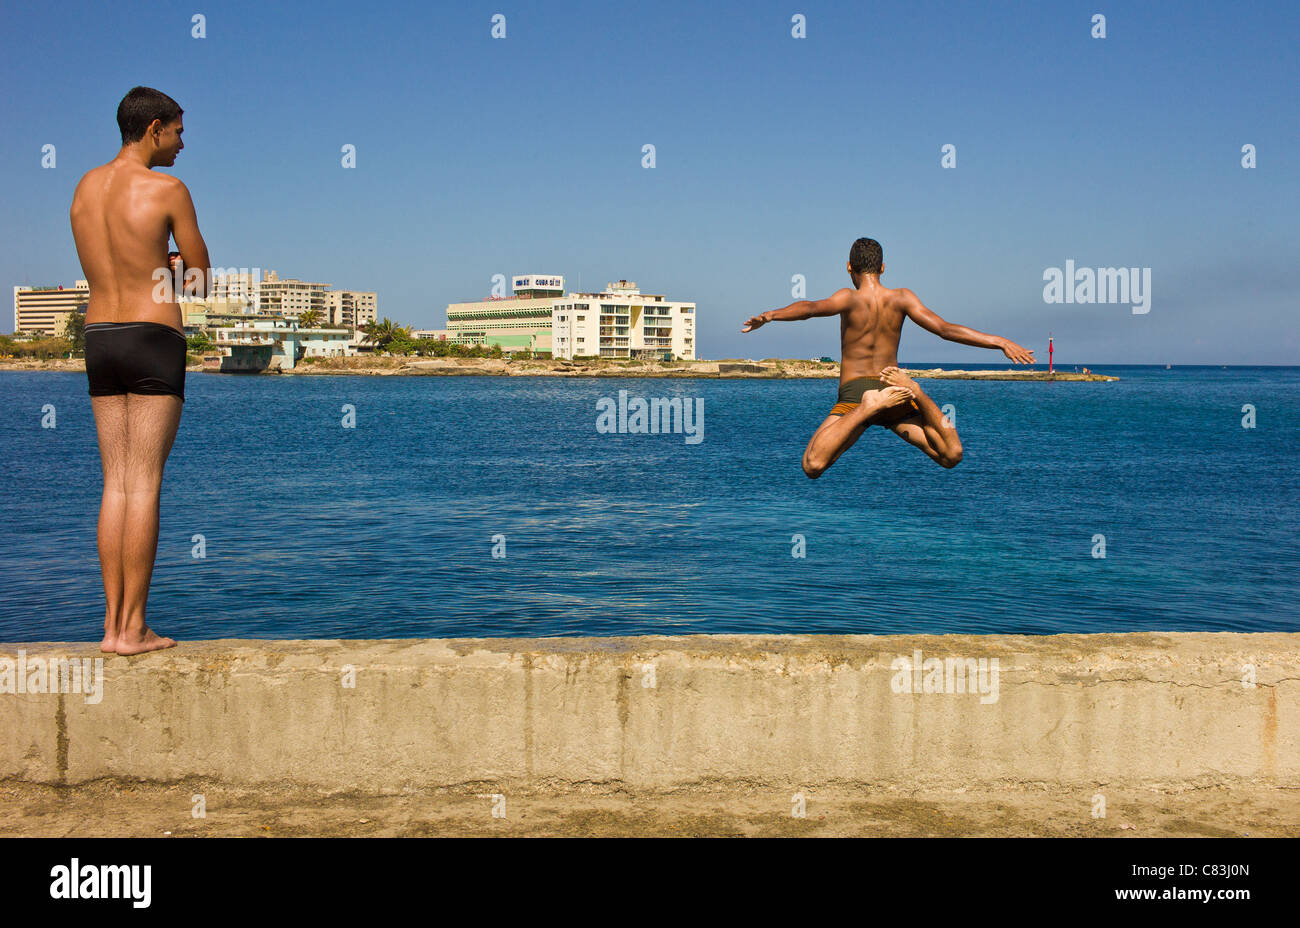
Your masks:
[[[91,396],[104,489],[99,500],[99,569],[104,576],[104,641],[112,654],[122,616],[122,525],[126,520],[126,394]]]

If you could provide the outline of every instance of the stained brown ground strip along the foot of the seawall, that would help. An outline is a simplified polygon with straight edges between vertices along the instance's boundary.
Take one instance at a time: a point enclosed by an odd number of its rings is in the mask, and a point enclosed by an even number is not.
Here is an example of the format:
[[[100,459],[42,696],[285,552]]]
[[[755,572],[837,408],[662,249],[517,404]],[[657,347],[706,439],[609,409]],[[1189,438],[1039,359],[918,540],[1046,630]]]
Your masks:
[[[675,790],[464,784],[389,794],[233,788],[202,777],[77,786],[0,782],[0,837],[627,834],[1300,837],[1300,810],[1295,790],[1240,782],[1195,789],[1001,784],[948,790],[857,784],[801,786],[797,793],[744,782]]]

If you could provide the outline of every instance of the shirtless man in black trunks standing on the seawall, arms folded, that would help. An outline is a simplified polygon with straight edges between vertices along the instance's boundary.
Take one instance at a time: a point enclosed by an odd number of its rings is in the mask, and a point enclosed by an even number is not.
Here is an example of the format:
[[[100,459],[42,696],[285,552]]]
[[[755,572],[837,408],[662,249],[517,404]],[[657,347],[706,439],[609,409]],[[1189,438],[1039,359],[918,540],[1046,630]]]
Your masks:
[[[202,270],[196,295],[207,295],[209,278],[190,191],[152,170],[176,164],[185,148],[181,113],[166,94],[131,88],[117,107],[121,151],[81,179],[69,212],[90,283],[86,377],[104,474],[98,535],[105,652],[176,645],[150,630],[144,610],[157,554],[162,467],[185,403],[185,326],[168,239],[176,238],[182,266]]]

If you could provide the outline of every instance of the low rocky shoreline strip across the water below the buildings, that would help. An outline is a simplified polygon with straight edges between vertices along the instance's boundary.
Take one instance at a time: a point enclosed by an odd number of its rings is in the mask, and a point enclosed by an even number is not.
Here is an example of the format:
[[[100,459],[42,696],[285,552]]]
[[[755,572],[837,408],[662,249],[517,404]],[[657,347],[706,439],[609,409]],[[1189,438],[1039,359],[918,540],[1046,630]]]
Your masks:
[[[52,360],[5,359],[0,370],[83,372],[84,360],[58,357]],[[202,364],[190,364],[190,373],[212,373]],[[770,357],[762,361],[566,361],[507,360],[495,357],[321,357],[299,361],[292,370],[268,370],[266,374],[311,377],[316,374],[363,374],[372,377],[749,377],[749,378],[838,378],[837,363],[802,361]],[[944,368],[909,369],[918,380],[979,381],[1117,381],[1118,377],[1097,373],[1045,370],[948,370]]]

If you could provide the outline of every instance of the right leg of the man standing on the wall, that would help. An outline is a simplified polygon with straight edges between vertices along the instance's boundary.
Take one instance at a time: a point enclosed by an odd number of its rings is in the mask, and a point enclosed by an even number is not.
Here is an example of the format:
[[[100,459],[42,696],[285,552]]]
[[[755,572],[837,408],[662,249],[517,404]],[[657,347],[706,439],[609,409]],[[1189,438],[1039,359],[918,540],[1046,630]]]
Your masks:
[[[122,545],[122,619],[117,652],[142,654],[176,642],[148,629],[144,611],[159,541],[162,468],[181,424],[182,402],[173,395],[127,394],[126,520]]]

